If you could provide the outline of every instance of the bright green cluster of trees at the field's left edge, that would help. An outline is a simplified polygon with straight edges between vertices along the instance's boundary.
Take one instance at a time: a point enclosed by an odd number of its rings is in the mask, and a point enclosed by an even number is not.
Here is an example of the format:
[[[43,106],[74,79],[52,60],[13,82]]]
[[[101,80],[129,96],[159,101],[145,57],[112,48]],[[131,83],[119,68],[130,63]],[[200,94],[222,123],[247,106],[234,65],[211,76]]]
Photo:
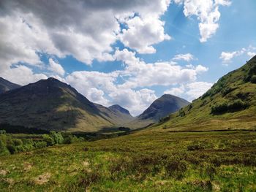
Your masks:
[[[66,132],[50,131],[50,134],[43,134],[37,139],[13,138],[12,134],[6,134],[6,131],[0,130],[0,155],[26,152],[43,147],[71,144],[83,141],[83,137],[76,137]]]

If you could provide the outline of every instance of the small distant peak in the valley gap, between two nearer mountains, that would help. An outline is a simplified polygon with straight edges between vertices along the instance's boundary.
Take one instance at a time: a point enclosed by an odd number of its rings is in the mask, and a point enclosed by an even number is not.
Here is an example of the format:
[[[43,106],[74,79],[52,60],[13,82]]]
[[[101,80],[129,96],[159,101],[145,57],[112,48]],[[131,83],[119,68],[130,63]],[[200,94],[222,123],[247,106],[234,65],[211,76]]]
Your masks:
[[[123,126],[125,123],[133,120],[132,115],[129,114],[129,111],[124,109],[119,105],[113,105],[110,107],[104,107],[100,104],[94,104],[97,109],[100,111],[100,114],[110,122],[112,122],[116,127]]]

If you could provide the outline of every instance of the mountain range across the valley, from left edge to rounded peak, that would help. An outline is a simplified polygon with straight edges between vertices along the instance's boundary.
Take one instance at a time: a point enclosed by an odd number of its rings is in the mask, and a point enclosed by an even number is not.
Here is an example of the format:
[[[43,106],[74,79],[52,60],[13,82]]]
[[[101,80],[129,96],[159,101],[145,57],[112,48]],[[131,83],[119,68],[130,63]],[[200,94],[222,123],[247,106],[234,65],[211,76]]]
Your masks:
[[[95,104],[52,77],[23,87],[4,79],[3,82],[9,89],[0,94],[0,124],[44,130],[97,132],[122,126],[141,128],[189,104],[176,96],[164,95],[134,118],[123,107]]]

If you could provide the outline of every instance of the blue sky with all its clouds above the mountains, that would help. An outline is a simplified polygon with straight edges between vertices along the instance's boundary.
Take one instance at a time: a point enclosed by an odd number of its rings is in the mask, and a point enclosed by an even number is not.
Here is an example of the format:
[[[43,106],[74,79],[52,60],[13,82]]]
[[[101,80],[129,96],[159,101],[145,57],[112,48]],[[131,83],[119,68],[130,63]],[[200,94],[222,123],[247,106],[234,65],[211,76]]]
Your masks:
[[[188,101],[256,55],[255,0],[1,0],[0,77],[55,77],[139,115]]]

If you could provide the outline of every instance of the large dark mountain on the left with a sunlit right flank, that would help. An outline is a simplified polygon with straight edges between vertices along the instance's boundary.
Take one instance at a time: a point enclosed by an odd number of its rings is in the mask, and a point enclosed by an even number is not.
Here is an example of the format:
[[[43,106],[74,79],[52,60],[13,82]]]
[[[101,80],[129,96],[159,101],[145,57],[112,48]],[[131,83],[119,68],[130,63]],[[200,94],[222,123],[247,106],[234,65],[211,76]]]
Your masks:
[[[113,126],[75,88],[49,78],[0,95],[0,123],[48,130],[99,131]]]

